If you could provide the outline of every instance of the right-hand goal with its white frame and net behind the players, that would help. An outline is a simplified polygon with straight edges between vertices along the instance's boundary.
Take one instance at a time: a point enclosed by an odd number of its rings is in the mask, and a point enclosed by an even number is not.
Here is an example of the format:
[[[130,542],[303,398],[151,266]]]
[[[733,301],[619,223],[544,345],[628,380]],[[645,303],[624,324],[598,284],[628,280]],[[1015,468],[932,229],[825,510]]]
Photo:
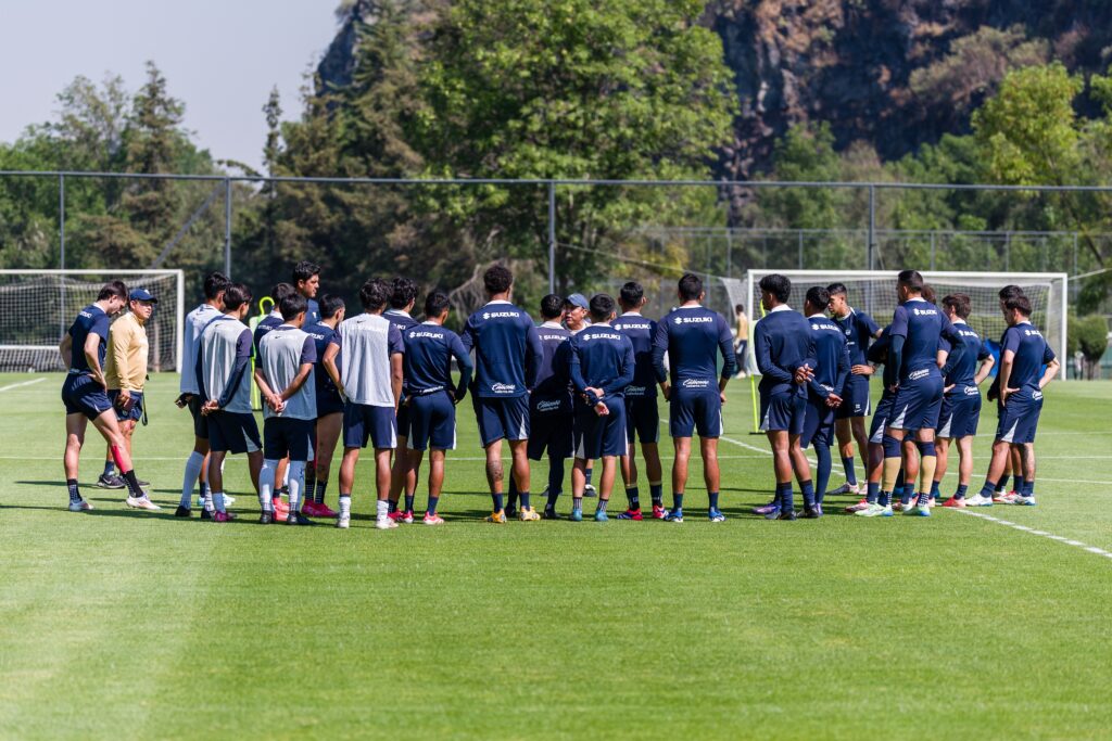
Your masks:
[[[780,273],[792,281],[793,308],[801,309],[803,297],[812,286],[845,283],[850,306],[865,311],[884,327],[896,308],[896,273],[881,270],[751,270],[746,273],[749,316],[761,316],[761,289],[764,276]],[[1004,286],[1019,286],[1031,300],[1031,322],[1042,331],[1046,342],[1065,358],[1066,273],[992,273],[992,272],[924,272],[923,279],[942,301],[949,293],[965,293],[972,303],[969,324],[991,344],[1000,340],[1006,323],[1000,311],[999,291]],[[753,313],[754,310],[757,313]],[[1065,362],[1062,363],[1064,378]]]

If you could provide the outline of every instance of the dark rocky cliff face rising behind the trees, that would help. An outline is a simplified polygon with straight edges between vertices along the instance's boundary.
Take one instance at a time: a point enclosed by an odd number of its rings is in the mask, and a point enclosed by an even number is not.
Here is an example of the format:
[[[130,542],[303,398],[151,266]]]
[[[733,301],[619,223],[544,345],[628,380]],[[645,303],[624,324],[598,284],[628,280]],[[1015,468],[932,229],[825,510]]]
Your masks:
[[[322,83],[351,78],[356,23],[374,0],[348,2],[319,67]],[[864,140],[883,159],[914,151],[970,114],[1015,64],[1109,63],[1108,0],[714,0],[704,22],[723,39],[741,116],[721,174],[766,171],[792,124],[828,121],[838,147]]]

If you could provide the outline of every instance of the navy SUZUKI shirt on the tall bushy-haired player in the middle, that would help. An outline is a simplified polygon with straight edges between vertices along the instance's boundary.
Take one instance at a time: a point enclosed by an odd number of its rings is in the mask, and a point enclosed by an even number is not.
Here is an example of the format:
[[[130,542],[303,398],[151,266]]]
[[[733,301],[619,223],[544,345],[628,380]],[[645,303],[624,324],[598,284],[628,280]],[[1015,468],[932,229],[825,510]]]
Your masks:
[[[459,339],[467,351],[475,350],[479,398],[524,397],[536,385],[544,351],[524,309],[509,301],[492,301],[467,318]]]

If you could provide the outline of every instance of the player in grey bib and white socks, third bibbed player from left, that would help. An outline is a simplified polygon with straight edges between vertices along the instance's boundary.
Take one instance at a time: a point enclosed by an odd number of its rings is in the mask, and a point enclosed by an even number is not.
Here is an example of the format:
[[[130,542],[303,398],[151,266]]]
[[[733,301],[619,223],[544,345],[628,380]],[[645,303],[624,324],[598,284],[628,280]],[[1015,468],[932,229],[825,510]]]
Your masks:
[[[312,450],[317,420],[314,366],[317,343],[301,330],[307,301],[299,293],[282,299],[282,323],[259,343],[255,382],[264,402],[262,470],[259,473],[259,522],[274,521],[272,493],[278,461],[289,458],[289,513],[286,523],[312,524],[298,511],[305,484],[305,464]]]

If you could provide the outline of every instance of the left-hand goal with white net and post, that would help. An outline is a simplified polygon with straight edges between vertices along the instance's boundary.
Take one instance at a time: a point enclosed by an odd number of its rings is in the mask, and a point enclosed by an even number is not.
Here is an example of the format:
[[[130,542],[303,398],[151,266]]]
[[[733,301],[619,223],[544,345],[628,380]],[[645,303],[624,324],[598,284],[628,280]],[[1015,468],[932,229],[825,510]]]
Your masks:
[[[158,298],[147,324],[151,371],[181,370],[180,270],[0,270],[0,371],[63,371],[58,343],[110,280]]]

